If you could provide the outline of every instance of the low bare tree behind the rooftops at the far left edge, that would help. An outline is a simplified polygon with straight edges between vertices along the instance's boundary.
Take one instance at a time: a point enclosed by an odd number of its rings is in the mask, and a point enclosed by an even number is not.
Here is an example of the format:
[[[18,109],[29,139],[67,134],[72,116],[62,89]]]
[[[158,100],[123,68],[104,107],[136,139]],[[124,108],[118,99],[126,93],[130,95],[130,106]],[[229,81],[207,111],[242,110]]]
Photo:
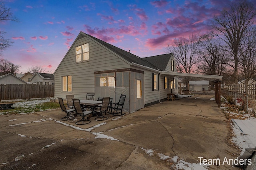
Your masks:
[[[0,72],[3,74],[18,72],[20,65],[11,63],[6,59],[0,59]]]

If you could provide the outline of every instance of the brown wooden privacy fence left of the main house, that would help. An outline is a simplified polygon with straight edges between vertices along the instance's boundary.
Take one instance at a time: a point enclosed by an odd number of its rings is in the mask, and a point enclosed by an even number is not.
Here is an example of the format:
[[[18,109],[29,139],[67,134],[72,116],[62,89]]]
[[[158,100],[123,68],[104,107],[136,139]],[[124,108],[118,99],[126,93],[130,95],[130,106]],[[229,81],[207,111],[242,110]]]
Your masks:
[[[54,85],[0,84],[0,101],[54,97]]]

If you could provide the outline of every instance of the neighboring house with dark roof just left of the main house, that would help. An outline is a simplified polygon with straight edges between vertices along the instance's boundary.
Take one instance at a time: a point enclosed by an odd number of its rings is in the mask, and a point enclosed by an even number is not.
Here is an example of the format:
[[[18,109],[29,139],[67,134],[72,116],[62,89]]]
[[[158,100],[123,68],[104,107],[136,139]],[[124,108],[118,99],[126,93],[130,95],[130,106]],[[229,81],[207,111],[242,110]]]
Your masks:
[[[54,75],[48,73],[36,72],[30,79],[32,84],[54,84]]]

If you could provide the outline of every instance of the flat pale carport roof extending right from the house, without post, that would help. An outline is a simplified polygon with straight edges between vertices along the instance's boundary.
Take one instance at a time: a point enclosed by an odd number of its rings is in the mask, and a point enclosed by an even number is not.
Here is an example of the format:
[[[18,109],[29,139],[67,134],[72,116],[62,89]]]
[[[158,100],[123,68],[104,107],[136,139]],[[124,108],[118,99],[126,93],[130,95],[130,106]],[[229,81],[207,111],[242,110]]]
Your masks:
[[[167,72],[163,71],[161,74],[164,75],[172,75],[178,78],[191,78],[190,80],[209,80],[209,81],[221,81],[222,76],[216,75],[208,75],[208,74],[188,74],[188,73],[180,73],[180,72]]]

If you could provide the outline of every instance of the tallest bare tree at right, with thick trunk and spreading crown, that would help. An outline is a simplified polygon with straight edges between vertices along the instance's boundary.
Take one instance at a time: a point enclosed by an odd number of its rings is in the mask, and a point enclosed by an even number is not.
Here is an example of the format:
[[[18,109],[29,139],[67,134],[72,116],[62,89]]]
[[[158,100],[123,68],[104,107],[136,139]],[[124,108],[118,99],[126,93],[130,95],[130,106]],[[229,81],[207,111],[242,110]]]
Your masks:
[[[226,43],[232,57],[234,57],[234,77],[238,82],[238,48],[246,29],[250,27],[256,16],[254,5],[247,0],[232,3],[229,9],[224,9],[220,15],[214,17],[213,28]]]

